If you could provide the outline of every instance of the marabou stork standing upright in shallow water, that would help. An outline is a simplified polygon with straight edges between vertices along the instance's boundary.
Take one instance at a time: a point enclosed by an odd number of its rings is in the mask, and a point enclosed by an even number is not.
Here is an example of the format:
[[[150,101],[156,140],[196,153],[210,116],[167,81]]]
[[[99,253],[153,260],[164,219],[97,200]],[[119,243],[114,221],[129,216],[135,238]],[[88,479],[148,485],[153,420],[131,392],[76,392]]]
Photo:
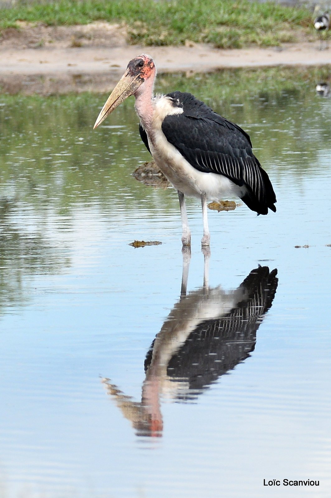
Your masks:
[[[178,192],[183,246],[191,241],[184,196],[201,199],[202,246],[210,241],[207,198],[235,195],[258,214],[266,215],[268,208],[275,212],[274,189],[252,152],[249,135],[189,93],[154,97],[156,74],[149,55],[132,59],[94,128],[127,97],[135,96],[141,138]]]

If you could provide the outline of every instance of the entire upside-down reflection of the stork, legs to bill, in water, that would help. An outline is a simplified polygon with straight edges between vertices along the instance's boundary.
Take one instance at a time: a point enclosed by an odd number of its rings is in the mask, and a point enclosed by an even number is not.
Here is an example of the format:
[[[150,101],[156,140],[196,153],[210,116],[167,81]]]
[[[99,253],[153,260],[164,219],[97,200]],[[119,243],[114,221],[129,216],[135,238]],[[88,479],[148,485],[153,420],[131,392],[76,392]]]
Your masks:
[[[142,401],[103,380],[138,435],[162,435],[160,397],[195,398],[254,351],[256,331],[276,293],[277,270],[259,266],[237,289],[226,292],[208,287],[208,259],[206,250],[204,286],[186,294],[189,254],[184,253],[181,297],[147,354]]]

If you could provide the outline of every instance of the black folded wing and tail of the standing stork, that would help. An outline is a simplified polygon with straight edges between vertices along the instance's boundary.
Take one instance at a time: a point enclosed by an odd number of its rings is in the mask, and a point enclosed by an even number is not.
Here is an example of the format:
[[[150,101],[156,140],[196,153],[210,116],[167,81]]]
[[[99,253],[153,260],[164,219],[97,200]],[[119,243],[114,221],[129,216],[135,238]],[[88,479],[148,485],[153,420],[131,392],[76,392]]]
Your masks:
[[[237,124],[214,113],[191,94],[167,95],[182,114],[167,116],[162,124],[166,139],[196,169],[217,173],[245,187],[242,200],[259,214],[276,211],[269,177],[252,151],[249,135]]]

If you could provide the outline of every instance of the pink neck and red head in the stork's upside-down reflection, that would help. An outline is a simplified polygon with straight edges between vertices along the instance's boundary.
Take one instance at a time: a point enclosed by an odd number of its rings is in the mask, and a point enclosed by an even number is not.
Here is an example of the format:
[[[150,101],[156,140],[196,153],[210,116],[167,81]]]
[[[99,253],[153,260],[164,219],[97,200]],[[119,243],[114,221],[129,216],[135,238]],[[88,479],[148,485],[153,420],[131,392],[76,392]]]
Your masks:
[[[151,436],[161,436],[163,420],[160,409],[160,378],[153,373],[148,372],[144,380],[142,404],[150,415]]]

